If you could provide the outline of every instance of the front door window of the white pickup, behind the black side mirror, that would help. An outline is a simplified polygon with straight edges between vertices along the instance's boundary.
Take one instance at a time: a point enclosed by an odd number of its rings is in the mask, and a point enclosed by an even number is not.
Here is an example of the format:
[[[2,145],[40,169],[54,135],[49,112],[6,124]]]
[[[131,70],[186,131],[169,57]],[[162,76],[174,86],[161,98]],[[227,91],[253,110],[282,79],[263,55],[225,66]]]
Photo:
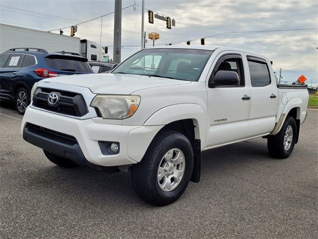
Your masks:
[[[239,83],[236,86],[244,86],[244,71],[243,62],[239,57],[221,58],[221,62],[217,64],[217,70],[214,71],[214,76],[218,71],[234,71],[239,75]],[[235,87],[235,86],[234,86]]]

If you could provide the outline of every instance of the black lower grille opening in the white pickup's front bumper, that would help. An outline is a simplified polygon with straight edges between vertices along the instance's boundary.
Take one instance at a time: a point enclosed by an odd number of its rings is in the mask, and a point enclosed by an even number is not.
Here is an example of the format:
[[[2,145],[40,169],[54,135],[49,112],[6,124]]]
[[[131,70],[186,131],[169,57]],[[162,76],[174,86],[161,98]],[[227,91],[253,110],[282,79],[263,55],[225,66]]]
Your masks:
[[[61,133],[52,129],[44,128],[38,125],[35,125],[33,123],[27,123],[25,126],[29,132],[34,133],[36,135],[39,135],[41,137],[45,137],[48,139],[52,139],[54,141],[68,144],[68,145],[74,145],[77,144],[78,141],[76,138],[72,135]]]

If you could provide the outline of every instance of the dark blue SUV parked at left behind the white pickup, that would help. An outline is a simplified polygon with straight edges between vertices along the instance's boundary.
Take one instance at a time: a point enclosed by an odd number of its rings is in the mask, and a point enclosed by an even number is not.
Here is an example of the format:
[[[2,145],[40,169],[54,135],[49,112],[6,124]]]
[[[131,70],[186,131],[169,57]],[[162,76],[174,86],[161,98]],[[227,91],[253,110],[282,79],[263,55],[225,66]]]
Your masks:
[[[14,48],[0,54],[0,100],[15,103],[23,115],[34,83],[49,77],[93,73],[87,59],[76,53]]]

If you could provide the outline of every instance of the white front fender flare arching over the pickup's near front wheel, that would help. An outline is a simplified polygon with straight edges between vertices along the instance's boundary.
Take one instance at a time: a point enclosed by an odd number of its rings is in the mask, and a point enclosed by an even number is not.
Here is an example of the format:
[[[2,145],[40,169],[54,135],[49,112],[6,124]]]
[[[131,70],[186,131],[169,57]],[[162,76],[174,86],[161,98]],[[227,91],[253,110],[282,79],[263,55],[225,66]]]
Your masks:
[[[144,125],[166,125],[182,119],[193,120],[193,124],[195,125],[195,139],[200,139],[201,148],[204,148],[206,141],[207,118],[204,109],[198,104],[185,103],[161,108],[150,116],[144,122]]]

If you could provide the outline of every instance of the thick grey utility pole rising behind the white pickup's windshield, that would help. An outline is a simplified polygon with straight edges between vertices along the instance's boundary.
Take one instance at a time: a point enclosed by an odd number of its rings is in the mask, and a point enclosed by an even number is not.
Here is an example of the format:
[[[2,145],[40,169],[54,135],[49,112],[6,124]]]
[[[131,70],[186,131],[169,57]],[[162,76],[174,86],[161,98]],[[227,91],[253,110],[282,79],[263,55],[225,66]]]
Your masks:
[[[121,0],[115,0],[113,62],[120,63],[121,56]]]

